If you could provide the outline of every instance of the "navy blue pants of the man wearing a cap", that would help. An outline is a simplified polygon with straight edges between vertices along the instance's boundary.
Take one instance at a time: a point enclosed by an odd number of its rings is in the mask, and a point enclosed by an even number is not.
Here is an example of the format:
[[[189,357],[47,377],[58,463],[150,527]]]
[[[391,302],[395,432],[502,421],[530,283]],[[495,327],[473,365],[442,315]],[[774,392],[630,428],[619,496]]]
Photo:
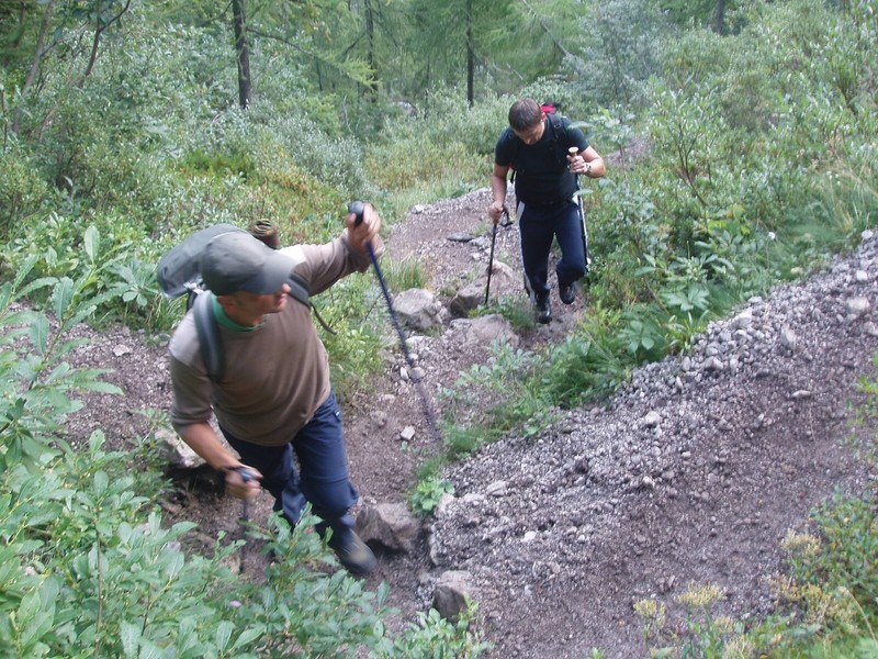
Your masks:
[[[327,526],[340,537],[353,527],[348,510],[359,494],[348,476],[348,456],[341,429],[341,411],[335,393],[314,413],[314,417],[283,446],[258,446],[223,435],[240,455],[241,462],[262,473],[262,487],[274,498],[274,510],[295,525],[309,501],[312,512],[325,522],[317,525],[323,534]],[[293,451],[299,469],[293,463]]]

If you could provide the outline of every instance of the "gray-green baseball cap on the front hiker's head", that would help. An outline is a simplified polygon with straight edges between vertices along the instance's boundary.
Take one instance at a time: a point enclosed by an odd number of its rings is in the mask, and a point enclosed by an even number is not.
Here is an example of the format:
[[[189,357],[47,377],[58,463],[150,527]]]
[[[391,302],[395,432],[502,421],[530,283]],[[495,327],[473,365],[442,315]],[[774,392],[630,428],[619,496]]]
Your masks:
[[[277,293],[290,277],[293,260],[246,232],[212,238],[201,257],[201,278],[215,295],[247,291]]]

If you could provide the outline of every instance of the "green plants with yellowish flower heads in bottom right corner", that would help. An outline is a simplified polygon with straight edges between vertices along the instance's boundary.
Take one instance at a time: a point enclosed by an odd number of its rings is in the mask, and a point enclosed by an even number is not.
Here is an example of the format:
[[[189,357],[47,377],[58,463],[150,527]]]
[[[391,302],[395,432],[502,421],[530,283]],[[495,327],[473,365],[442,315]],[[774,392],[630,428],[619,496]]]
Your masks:
[[[878,650],[878,513],[874,499],[836,494],[812,515],[813,533],[781,541],[789,571],[774,580],[777,613],[748,625],[713,617],[721,591],[694,587],[677,600],[688,612],[674,633],[664,605],[634,605],[654,657],[874,657]]]

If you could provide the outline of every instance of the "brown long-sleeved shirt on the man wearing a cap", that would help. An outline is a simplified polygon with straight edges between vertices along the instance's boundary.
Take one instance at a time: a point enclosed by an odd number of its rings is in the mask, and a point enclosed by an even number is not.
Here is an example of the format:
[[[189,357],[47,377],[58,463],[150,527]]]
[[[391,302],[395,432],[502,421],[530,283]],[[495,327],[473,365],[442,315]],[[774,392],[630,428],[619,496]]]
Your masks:
[[[374,246],[380,254],[380,239]],[[349,249],[346,234],[325,245],[296,245],[282,252],[297,261],[294,270],[311,282],[312,294],[370,265],[368,255]],[[213,412],[238,439],[262,446],[286,444],[330,391],[329,358],[311,311],[290,299],[256,330],[235,332],[221,325],[219,335],[226,370],[214,384],[201,358],[191,311],[173,333],[169,349],[175,428],[206,423]]]

